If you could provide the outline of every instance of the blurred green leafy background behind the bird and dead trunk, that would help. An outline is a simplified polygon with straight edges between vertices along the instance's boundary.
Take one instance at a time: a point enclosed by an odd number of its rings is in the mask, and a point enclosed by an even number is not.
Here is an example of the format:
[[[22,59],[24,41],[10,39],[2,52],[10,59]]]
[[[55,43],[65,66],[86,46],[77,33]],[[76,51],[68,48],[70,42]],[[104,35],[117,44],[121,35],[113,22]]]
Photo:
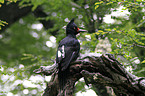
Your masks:
[[[88,30],[77,36],[81,54],[111,53],[127,71],[144,77],[144,5],[144,0],[0,0],[0,95],[43,93],[51,77],[33,70],[55,62],[72,18]],[[105,96],[97,91],[100,87],[88,87],[82,78],[75,96]],[[111,88],[103,89],[103,94],[113,96]]]

